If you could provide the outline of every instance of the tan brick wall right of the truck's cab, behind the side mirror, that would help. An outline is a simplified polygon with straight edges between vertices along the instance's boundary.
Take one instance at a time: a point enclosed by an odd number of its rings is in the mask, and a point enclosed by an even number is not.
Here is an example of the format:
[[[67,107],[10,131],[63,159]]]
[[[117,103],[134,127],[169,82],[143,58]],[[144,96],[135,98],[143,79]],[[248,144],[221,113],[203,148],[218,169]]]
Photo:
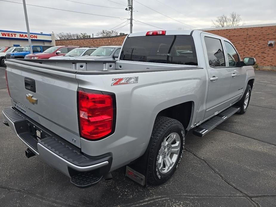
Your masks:
[[[276,66],[276,46],[267,46],[269,40],[276,42],[276,26],[207,30],[206,32],[229,39],[241,58],[254,57],[259,66]]]

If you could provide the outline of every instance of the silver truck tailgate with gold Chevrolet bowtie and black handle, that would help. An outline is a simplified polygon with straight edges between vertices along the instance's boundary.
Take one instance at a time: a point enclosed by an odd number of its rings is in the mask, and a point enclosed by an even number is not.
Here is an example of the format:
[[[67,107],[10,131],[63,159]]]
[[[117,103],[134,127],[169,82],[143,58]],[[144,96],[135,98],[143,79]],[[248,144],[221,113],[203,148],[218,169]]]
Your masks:
[[[33,67],[10,61],[6,63],[13,106],[80,148],[77,115],[78,82],[75,71],[50,70],[41,64],[35,64],[36,67]]]

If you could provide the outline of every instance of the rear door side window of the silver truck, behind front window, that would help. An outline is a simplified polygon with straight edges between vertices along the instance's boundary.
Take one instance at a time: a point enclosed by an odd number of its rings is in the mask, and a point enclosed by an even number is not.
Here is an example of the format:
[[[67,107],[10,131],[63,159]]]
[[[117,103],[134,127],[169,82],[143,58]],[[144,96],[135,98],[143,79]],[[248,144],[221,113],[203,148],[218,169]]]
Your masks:
[[[204,37],[209,66],[211,67],[224,67],[225,58],[221,40],[212,37]]]

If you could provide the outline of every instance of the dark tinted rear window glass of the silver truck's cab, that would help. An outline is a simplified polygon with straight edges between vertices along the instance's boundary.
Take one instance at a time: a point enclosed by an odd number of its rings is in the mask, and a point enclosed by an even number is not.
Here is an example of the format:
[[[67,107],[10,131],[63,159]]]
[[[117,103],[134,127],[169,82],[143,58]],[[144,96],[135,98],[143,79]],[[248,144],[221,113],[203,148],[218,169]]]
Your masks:
[[[190,35],[129,37],[121,60],[181,65],[198,65],[195,44]]]

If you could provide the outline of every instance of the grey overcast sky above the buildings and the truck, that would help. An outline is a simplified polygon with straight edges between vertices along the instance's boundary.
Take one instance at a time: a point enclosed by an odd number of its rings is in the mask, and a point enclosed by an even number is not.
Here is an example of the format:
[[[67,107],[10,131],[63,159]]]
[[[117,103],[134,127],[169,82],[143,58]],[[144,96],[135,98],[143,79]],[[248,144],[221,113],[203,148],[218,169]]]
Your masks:
[[[22,0],[7,1],[22,3]],[[72,1],[116,8],[97,7],[67,0],[26,0],[26,3],[119,18],[94,16],[27,5],[30,31],[36,33],[87,33],[90,35],[94,33],[95,35],[100,30],[117,29],[128,23],[129,13],[124,10],[127,7],[127,0],[112,0],[113,2],[109,0]],[[138,2],[185,24],[150,10]],[[188,30],[210,28],[212,27],[212,19],[222,14],[228,15],[232,11],[240,14],[246,25],[276,23],[275,0],[134,0],[133,8],[133,19],[136,20],[133,21],[133,32],[156,30],[158,29],[156,27],[167,30],[178,28]],[[22,4],[0,1],[0,19],[0,30],[26,31]],[[155,27],[138,21],[151,24]],[[129,24],[118,29],[118,32],[129,33]]]

